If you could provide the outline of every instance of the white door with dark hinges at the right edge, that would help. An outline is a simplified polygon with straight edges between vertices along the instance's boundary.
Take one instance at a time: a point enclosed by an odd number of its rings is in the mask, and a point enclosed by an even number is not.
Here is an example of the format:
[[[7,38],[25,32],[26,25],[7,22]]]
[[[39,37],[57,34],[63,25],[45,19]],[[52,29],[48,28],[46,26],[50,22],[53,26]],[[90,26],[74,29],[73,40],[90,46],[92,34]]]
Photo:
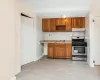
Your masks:
[[[100,17],[95,17],[95,22],[94,22],[94,35],[95,35],[95,65],[100,65]]]

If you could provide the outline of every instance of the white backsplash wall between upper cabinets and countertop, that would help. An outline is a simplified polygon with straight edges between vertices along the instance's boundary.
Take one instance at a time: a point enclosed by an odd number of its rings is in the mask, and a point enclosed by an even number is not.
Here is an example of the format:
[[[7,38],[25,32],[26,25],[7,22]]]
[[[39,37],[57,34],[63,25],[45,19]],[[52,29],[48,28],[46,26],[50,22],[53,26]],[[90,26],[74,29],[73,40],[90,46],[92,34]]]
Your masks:
[[[44,40],[71,40],[72,36],[85,36],[85,32],[44,32]]]

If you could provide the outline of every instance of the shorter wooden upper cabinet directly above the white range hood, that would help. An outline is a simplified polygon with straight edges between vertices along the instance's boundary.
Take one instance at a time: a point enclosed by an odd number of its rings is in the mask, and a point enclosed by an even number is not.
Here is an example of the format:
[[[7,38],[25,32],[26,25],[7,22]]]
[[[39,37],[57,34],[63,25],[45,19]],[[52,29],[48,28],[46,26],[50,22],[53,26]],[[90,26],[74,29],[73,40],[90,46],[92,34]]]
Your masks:
[[[72,18],[72,28],[85,28],[85,17]]]

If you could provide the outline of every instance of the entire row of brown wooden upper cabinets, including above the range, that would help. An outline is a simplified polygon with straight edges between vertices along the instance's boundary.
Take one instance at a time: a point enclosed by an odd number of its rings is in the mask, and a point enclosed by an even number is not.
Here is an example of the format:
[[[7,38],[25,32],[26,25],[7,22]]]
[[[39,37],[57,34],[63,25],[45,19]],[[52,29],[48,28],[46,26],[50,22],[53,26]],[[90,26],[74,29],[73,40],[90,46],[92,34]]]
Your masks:
[[[85,17],[42,19],[43,32],[71,32],[72,28],[85,28]]]

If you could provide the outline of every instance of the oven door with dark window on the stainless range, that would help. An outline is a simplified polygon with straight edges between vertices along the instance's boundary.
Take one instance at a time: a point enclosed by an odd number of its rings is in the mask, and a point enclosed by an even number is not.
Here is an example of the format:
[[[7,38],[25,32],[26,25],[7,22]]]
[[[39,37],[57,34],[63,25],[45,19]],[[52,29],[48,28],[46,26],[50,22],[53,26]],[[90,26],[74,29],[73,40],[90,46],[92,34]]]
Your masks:
[[[84,46],[73,46],[73,55],[85,55],[85,47]]]

